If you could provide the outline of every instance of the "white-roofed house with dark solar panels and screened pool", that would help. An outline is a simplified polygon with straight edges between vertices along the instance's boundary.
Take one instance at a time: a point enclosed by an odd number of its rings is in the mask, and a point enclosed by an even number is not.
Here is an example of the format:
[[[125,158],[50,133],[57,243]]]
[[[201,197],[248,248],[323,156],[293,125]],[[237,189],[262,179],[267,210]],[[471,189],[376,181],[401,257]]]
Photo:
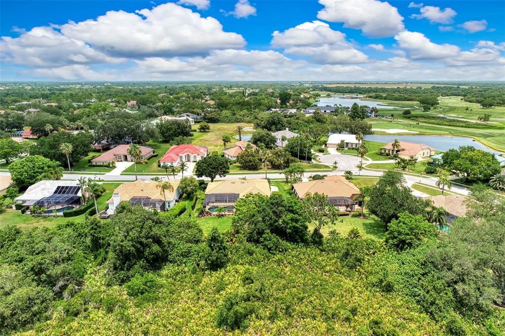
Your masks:
[[[42,180],[28,187],[23,195],[16,197],[15,201],[30,209],[34,205],[44,207],[46,211],[43,214],[46,215],[52,215],[53,210],[61,215],[65,210],[80,207],[81,196],[82,190],[76,180]]]

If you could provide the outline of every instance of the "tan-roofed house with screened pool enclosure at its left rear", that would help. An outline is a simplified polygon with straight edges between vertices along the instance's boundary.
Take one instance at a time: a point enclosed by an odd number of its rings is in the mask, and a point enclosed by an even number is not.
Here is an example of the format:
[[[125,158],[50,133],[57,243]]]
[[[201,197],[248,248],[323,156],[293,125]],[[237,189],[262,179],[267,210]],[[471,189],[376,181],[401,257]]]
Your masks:
[[[210,182],[205,190],[204,207],[211,214],[216,214],[219,207],[225,208],[226,214],[235,212],[235,203],[247,194],[270,196],[270,184],[265,179],[223,180]]]

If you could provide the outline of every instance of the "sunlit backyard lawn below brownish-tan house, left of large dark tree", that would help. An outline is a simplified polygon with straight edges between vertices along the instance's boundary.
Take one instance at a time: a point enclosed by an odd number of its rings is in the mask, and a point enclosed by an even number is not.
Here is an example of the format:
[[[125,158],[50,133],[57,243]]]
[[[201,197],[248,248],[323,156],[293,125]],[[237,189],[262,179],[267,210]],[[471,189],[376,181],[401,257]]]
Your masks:
[[[321,233],[327,236],[331,230],[336,230],[341,235],[346,235],[352,228],[358,228],[364,238],[372,238],[375,240],[381,240],[386,233],[383,223],[375,216],[370,216],[367,219],[341,216],[336,223],[324,226],[321,229]],[[314,225],[309,224],[309,231],[312,232],[313,230]]]

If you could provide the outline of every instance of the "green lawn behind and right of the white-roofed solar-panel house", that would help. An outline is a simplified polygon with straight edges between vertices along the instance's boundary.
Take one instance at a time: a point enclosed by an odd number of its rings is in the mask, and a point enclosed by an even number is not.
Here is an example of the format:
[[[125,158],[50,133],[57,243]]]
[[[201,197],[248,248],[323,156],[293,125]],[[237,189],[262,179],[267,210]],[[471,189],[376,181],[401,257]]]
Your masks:
[[[99,211],[105,210],[107,201],[112,197],[114,189],[116,189],[119,185],[120,183],[104,183],[106,192],[96,200]],[[0,229],[8,225],[15,225],[21,229],[54,227],[58,223],[64,223],[67,221],[84,221],[84,214],[75,217],[32,216],[28,214],[21,214],[21,211],[19,210],[0,209]]]

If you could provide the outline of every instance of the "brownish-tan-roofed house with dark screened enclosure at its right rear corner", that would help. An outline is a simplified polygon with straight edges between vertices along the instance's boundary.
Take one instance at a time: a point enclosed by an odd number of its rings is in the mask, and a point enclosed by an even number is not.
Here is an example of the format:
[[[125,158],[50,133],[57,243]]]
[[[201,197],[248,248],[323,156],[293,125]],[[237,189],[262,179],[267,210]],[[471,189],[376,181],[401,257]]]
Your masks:
[[[361,195],[360,189],[339,175],[327,176],[324,180],[295,183],[293,192],[299,199],[315,193],[323,194],[339,211],[352,212],[356,210],[357,205],[361,204],[356,199]]]

